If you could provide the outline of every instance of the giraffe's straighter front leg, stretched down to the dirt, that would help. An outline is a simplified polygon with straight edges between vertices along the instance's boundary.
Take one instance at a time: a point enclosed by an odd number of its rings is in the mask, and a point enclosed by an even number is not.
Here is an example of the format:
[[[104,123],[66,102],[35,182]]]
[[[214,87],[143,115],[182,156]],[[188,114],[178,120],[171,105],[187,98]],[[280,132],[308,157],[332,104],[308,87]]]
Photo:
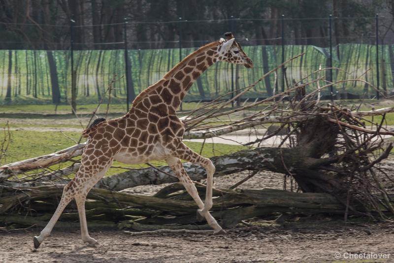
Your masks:
[[[176,157],[172,157],[166,160],[167,164],[173,170],[175,175],[178,177],[179,181],[183,184],[186,191],[189,195],[196,201],[198,206],[198,212],[206,219],[208,225],[213,228],[215,234],[226,233],[225,230],[219,226],[218,222],[216,222],[215,218],[209,213],[208,210],[204,210],[204,203],[201,201],[201,198],[198,196],[197,188],[193,184],[192,180],[186,173],[181,160]]]

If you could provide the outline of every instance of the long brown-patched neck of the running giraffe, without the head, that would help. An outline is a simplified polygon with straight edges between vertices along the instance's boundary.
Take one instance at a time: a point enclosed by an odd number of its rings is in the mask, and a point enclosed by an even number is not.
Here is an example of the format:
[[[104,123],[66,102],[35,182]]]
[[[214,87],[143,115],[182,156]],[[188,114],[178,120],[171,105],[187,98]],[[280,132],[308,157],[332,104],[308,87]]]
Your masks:
[[[160,99],[176,110],[195,80],[217,61],[217,56],[215,56],[217,48],[218,42],[212,42],[187,56],[160,81],[138,95],[133,101],[133,107],[146,104],[139,102],[150,98],[155,101]],[[155,101],[150,101],[150,103],[155,104]]]

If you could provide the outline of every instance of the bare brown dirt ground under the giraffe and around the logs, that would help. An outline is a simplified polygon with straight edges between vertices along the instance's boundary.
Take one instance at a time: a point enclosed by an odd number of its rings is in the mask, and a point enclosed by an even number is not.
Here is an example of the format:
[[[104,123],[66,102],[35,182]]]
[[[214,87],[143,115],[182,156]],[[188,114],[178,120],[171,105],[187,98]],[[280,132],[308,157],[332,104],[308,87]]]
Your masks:
[[[393,161],[384,163],[392,171],[393,164]],[[243,172],[215,178],[215,187],[230,187],[247,175],[248,172]],[[261,172],[242,184],[242,188],[282,189],[283,185],[283,174]],[[289,180],[286,186],[290,189]],[[162,187],[164,185],[140,186],[125,192],[152,195]],[[256,220],[274,218],[271,216]],[[120,230],[90,229],[91,236],[99,241],[96,247],[83,244],[79,230],[54,230],[39,249],[34,250],[33,235],[40,230],[0,233],[0,262],[394,262],[394,224],[374,225],[372,222],[356,220],[344,223],[341,216],[293,215],[288,216],[279,226],[229,230],[227,235],[217,236],[131,236]],[[364,260],[355,261],[355,255],[364,256]],[[369,260],[368,257],[371,256],[375,259]]]

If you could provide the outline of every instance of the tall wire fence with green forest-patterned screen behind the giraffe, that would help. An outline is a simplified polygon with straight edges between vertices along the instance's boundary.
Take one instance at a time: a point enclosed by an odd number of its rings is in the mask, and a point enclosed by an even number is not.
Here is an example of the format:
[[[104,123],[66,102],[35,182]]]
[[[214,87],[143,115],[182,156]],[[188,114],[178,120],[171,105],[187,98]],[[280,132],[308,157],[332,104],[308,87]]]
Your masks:
[[[394,91],[394,45],[386,43],[379,21],[383,17],[293,19],[225,19],[204,21],[134,22],[108,25],[69,26],[18,24],[26,30],[55,27],[61,37],[47,37],[43,42],[0,41],[0,103],[68,103],[73,96],[79,103],[97,102],[114,78],[114,101],[131,102],[133,97],[158,81],[196,47],[215,41],[232,31],[246,54],[254,61],[253,69],[217,63],[191,87],[186,101],[215,99],[231,90],[247,86],[283,61],[305,55],[267,77],[243,99],[272,96],[291,86],[319,67],[335,67],[324,74],[328,80],[358,78],[370,82],[387,94]],[[348,25],[344,32],[334,31],[335,23]],[[315,23],[320,32],[297,30],[302,24]],[[276,29],[267,37],[263,27]],[[95,28],[112,28],[109,39],[95,39]],[[190,35],[196,27],[209,27],[217,35]],[[255,29],[250,35],[237,35]],[[314,27],[316,28],[316,27]],[[170,30],[168,30],[170,29]],[[82,32],[83,31],[83,32]],[[53,32],[53,31],[51,31]],[[143,33],[139,33],[143,32]],[[161,33],[157,33],[161,32]],[[166,32],[166,34],[164,34]],[[212,32],[212,30],[210,31]],[[250,30],[248,31],[250,32]],[[345,35],[345,36],[344,36]],[[81,37],[83,36],[83,37]],[[386,41],[386,42],[385,42]],[[75,74],[71,74],[75,71]],[[321,73],[322,74],[322,73]],[[73,78],[75,88],[72,89]],[[129,87],[129,89],[127,88]],[[313,85],[310,87],[315,88]],[[336,98],[375,97],[376,90],[359,82],[335,86]],[[331,96],[331,91],[323,95]]]

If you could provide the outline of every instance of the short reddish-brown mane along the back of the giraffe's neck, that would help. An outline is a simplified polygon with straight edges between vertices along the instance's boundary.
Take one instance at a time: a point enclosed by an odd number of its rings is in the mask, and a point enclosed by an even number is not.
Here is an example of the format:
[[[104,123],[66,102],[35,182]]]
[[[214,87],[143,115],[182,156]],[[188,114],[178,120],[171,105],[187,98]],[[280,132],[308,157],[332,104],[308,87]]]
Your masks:
[[[140,94],[138,94],[137,97],[132,101],[133,105],[136,105],[138,102],[140,102],[142,99],[144,99],[148,94],[150,94],[152,91],[154,91],[157,87],[159,87],[161,84],[163,84],[168,78],[170,78],[175,72],[177,72],[180,68],[185,66],[191,58],[196,56],[198,53],[200,53],[202,50],[209,49],[211,47],[217,46],[220,44],[220,41],[214,41],[209,44],[206,44],[205,46],[202,46],[198,48],[196,51],[190,53],[186,58],[184,58],[181,62],[179,62],[177,65],[175,65],[173,68],[171,68],[170,71],[165,73],[164,77],[156,82],[155,84],[149,86],[145,90],[143,90]]]

